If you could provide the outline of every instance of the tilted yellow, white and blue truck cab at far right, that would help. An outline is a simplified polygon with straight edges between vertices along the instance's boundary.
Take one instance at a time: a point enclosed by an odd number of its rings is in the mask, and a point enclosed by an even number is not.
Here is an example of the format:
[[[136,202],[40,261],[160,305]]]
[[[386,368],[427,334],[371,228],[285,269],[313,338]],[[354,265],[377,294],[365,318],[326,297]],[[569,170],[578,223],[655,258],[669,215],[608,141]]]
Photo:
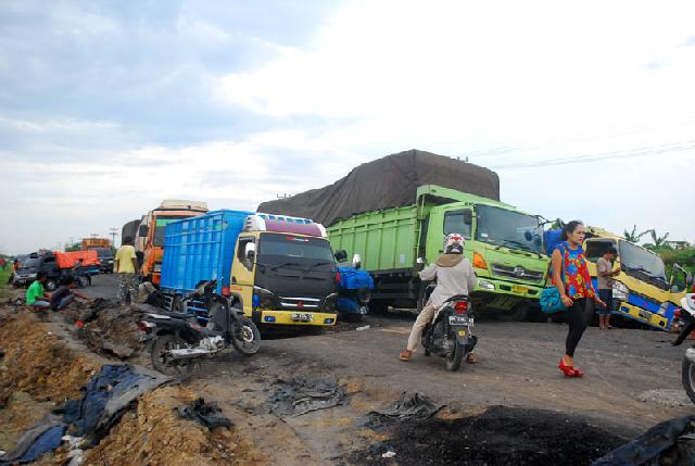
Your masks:
[[[608,248],[618,251],[615,267],[620,267],[620,274],[614,277],[612,313],[669,330],[673,312],[685,295],[685,286],[680,289],[667,279],[666,266],[658,254],[602,228],[587,227],[586,231],[584,255],[594,287],[596,261]]]

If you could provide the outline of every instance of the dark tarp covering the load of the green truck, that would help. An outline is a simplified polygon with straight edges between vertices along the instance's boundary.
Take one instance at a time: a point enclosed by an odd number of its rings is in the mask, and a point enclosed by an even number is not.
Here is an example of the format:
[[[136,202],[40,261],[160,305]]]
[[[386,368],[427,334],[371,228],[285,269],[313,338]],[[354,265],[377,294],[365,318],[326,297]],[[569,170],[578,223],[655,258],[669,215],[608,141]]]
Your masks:
[[[424,185],[500,200],[500,178],[494,172],[414,149],[362,164],[330,186],[263,202],[257,211],[330,226],[363,212],[410,205],[417,188]]]

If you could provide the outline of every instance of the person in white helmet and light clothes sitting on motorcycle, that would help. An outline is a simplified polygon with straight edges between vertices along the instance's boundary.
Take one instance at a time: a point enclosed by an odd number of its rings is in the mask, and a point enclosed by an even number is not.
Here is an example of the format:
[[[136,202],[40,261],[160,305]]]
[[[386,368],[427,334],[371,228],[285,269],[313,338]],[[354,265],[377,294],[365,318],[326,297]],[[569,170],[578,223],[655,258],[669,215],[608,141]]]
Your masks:
[[[433,264],[420,272],[419,276],[424,281],[437,278],[437,288],[413,324],[407,348],[399,355],[401,361],[410,361],[422,336],[422,330],[427,324],[434,319],[444,301],[456,294],[468,295],[469,291],[476,288],[478,279],[470,261],[464,256],[464,245],[465,241],[462,235],[448,234],[444,239],[444,253]],[[473,353],[468,353],[467,362],[473,363],[475,361]]]

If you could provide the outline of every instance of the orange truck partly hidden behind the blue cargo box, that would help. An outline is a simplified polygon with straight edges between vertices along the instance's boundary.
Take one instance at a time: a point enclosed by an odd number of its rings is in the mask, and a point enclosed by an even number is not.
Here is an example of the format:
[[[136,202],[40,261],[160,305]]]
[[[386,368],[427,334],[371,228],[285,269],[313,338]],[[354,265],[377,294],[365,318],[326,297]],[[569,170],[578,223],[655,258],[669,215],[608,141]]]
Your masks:
[[[207,203],[201,201],[162,201],[159,207],[143,216],[138,228],[136,251],[142,253],[140,273],[147,281],[159,286],[164,257],[164,228],[166,224],[207,213]]]

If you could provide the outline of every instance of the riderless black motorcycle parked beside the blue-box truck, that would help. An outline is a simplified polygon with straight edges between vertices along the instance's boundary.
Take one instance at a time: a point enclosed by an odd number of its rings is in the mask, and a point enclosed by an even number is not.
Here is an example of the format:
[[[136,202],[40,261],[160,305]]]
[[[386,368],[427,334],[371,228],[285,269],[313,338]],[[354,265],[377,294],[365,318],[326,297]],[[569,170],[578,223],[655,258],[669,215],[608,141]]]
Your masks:
[[[199,284],[184,300],[203,302],[208,311],[205,327],[195,314],[162,311],[146,313],[138,327],[146,333],[152,366],[168,376],[188,378],[193,364],[218,355],[233,347],[244,356],[252,356],[261,348],[261,332],[243,315],[241,298],[231,300],[215,292],[217,280]]]

